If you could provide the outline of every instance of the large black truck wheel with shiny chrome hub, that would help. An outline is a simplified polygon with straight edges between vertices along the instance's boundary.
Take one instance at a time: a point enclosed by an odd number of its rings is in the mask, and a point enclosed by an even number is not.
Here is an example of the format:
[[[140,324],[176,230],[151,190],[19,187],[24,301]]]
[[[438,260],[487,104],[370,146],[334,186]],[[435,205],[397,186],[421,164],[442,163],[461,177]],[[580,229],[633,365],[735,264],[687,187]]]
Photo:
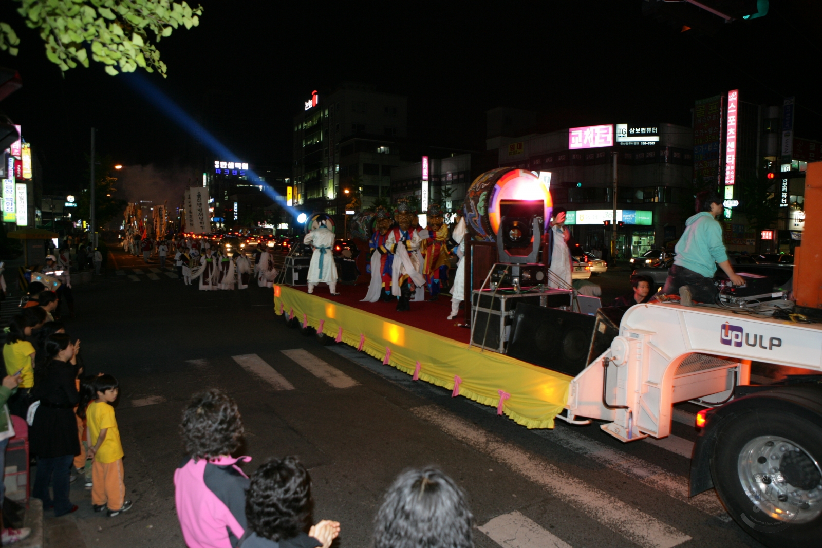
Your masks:
[[[822,426],[791,412],[743,412],[718,432],[711,477],[731,517],[765,546],[822,538]]]

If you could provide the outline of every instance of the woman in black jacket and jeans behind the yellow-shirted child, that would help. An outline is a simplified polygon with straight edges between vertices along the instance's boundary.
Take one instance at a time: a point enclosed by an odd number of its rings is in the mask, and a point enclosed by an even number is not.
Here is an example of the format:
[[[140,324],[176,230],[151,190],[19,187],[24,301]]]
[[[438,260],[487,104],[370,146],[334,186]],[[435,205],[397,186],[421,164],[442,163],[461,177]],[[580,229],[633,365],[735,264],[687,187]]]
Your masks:
[[[53,334],[45,341],[47,359],[35,368],[34,398],[40,405],[35,412],[29,440],[37,455],[37,476],[31,496],[43,501],[43,508],[53,508],[55,516],[76,511],[68,500],[69,470],[74,456],[80,454],[74,407],[80,397],[76,389],[76,366],[70,361],[80,346],[72,344],[67,334]],[[54,500],[48,493],[53,481]]]

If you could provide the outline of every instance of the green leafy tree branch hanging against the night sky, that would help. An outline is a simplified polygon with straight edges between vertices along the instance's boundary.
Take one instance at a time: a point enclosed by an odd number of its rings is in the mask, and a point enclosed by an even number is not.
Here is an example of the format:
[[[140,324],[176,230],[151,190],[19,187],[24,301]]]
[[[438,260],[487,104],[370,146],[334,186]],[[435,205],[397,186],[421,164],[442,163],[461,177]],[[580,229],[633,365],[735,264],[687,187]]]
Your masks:
[[[49,61],[65,72],[89,58],[102,62],[111,76],[137,67],[166,76],[166,65],[152,43],[184,26],[200,25],[203,8],[169,0],[16,0],[30,29],[39,30]],[[12,25],[0,22],[0,50],[17,55]]]

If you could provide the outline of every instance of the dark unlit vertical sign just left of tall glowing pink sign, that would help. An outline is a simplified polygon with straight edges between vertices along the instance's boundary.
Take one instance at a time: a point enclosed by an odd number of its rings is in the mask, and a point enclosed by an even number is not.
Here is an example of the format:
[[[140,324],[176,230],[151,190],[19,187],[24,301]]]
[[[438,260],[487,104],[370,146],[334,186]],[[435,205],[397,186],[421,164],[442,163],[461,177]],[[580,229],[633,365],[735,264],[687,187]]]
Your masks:
[[[716,185],[719,176],[722,97],[699,99],[694,104],[694,187]]]

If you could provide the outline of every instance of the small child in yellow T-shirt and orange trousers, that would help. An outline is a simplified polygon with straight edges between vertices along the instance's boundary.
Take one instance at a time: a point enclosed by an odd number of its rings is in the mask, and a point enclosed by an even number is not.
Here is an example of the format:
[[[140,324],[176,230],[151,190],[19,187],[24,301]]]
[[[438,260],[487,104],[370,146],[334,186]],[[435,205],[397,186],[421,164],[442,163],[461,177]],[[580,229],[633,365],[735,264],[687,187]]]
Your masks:
[[[91,463],[91,508],[95,512],[108,510],[109,518],[132,508],[126,500],[123,482],[122,444],[117,418],[111,404],[117,399],[119,383],[113,375],[100,375],[94,380],[97,399],[85,413]]]

